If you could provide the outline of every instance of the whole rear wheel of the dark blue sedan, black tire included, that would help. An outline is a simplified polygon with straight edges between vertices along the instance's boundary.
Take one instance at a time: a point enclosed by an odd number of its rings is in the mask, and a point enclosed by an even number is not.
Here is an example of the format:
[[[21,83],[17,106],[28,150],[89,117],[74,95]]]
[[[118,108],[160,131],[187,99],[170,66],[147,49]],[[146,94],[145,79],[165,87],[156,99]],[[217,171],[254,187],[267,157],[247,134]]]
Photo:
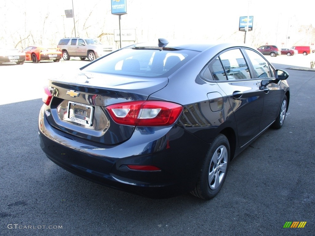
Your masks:
[[[196,188],[192,195],[209,200],[219,193],[225,181],[230,161],[230,144],[226,136],[219,134],[212,142],[203,161]]]

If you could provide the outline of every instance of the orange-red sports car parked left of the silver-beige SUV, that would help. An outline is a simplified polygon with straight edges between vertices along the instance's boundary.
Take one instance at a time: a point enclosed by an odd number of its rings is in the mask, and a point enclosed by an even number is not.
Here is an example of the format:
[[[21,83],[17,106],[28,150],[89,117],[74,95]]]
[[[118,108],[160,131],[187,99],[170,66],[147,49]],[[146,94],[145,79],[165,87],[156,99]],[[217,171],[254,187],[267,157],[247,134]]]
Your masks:
[[[59,62],[62,55],[59,48],[29,46],[24,51],[26,53],[26,61],[32,61],[33,63],[39,63],[41,60]]]

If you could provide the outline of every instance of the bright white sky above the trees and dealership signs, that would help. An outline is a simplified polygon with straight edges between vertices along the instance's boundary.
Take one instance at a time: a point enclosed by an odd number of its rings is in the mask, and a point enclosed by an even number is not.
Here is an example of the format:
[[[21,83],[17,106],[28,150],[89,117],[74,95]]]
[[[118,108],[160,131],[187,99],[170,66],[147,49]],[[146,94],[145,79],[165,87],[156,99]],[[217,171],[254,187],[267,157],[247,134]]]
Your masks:
[[[84,23],[90,27],[89,30],[95,29],[95,34],[90,33],[90,37],[119,28],[118,16],[111,15],[111,1],[73,0],[77,36],[84,33]],[[312,24],[315,27],[313,0],[295,1],[294,5],[287,0],[126,1],[127,14],[121,16],[121,28],[137,29],[141,41],[164,37],[164,34],[165,37],[171,35],[183,39],[211,39],[214,36],[213,38],[228,40],[229,36],[237,32],[237,35],[243,37],[242,32],[238,32],[239,17],[247,14],[254,17],[253,27],[261,32],[261,38],[272,35],[273,38],[269,41],[276,42],[278,34],[278,41],[282,42],[283,38],[290,35],[291,25]],[[31,27],[33,36],[38,38],[41,37],[40,32],[43,32],[43,19],[49,15],[50,22],[46,22],[45,33],[52,33],[56,38],[74,36],[71,35],[73,20],[64,16],[66,9],[72,9],[72,0],[0,0],[0,15],[6,20],[4,23],[2,21],[0,31],[3,27],[2,31],[7,34],[10,29],[28,34],[28,29],[25,28]],[[91,12],[92,15],[89,15]],[[52,23],[49,28],[48,23]],[[37,31],[39,34],[35,35]],[[254,31],[251,33],[254,34]],[[256,31],[255,34],[257,33]],[[42,33],[42,37],[48,36]]]

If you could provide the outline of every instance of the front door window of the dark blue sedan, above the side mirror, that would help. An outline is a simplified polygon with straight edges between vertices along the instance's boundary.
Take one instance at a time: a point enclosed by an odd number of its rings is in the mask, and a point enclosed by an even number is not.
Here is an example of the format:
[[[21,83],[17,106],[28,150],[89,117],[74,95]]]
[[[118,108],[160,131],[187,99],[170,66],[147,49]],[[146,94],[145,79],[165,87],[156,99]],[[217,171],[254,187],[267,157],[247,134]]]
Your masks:
[[[245,52],[254,67],[254,78],[274,77],[268,62],[260,54],[248,49],[245,49]]]

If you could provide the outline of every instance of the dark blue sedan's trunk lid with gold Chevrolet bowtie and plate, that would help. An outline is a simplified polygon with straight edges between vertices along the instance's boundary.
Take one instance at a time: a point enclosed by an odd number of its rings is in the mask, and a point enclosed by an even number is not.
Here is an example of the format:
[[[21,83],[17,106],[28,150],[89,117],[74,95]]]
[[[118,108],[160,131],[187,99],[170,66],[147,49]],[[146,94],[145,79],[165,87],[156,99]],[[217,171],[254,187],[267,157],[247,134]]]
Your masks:
[[[115,123],[106,106],[146,100],[168,83],[167,78],[140,78],[101,73],[63,75],[49,80],[52,94],[46,118],[55,128],[102,144],[129,139],[135,126]]]

